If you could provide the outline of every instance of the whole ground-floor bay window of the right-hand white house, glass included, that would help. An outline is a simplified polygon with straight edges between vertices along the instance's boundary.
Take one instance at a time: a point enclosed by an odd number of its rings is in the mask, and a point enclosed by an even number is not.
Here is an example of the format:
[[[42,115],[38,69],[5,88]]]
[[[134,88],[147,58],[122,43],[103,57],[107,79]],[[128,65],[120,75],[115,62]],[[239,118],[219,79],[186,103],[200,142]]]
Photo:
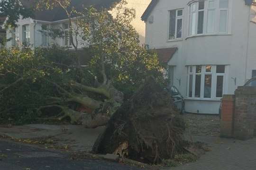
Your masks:
[[[187,97],[195,99],[221,98],[225,71],[225,65],[189,66]]]

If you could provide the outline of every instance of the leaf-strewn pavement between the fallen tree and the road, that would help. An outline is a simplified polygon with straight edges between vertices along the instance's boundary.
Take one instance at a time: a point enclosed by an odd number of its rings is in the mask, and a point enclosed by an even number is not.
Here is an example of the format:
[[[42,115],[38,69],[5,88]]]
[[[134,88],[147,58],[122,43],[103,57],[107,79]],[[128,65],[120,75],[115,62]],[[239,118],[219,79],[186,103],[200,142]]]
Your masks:
[[[49,138],[57,145],[68,145],[72,151],[90,152],[98,136],[105,127],[87,129],[81,125],[44,125],[0,126],[0,136],[14,139]]]

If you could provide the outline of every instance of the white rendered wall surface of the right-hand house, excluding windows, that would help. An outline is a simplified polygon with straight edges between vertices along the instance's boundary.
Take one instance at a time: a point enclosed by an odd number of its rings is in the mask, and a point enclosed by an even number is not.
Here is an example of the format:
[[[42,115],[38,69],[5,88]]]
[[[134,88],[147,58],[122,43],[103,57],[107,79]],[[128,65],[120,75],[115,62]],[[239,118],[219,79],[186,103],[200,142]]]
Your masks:
[[[160,0],[151,15],[154,23],[146,22],[146,44],[150,48],[178,47],[178,51],[169,61],[174,68],[174,85],[181,91],[183,96],[187,92],[187,65],[228,65],[225,81],[224,94],[233,94],[239,85],[246,81],[246,56],[247,37],[250,7],[245,5],[244,0],[229,0],[229,34],[206,35],[188,38],[188,6],[191,0]],[[168,11],[183,8],[183,39],[181,41],[167,41],[168,35]],[[253,24],[251,24],[253,25]],[[251,44],[256,44],[256,26],[250,27]],[[254,51],[253,51],[253,50]],[[249,52],[249,67],[256,67],[255,48],[252,46]],[[251,65],[251,66],[250,66]],[[256,69],[256,68],[255,68]],[[251,74],[251,73],[250,73]],[[237,78],[235,81],[232,79]],[[247,75],[249,77],[249,73]],[[177,79],[181,78],[181,86]],[[219,100],[211,101],[186,101],[186,111],[199,113],[218,113]],[[218,106],[218,107],[217,107]],[[197,108],[197,109],[196,109]]]

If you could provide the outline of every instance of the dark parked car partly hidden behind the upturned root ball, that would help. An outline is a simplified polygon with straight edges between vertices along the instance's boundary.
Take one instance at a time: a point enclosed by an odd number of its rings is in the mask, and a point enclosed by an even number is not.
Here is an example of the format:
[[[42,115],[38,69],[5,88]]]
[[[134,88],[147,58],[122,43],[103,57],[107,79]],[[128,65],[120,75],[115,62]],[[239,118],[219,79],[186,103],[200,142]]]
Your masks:
[[[181,114],[185,113],[185,101],[179,90],[174,85],[168,86],[166,90],[172,96],[174,104],[181,111]]]

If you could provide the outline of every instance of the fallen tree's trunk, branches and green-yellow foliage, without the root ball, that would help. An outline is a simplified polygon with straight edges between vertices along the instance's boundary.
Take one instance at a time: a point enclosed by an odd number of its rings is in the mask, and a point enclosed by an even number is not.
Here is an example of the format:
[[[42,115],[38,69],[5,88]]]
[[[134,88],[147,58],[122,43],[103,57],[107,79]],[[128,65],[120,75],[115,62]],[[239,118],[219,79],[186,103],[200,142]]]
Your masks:
[[[116,17],[107,9],[91,7],[75,18],[87,51],[83,57],[91,57],[86,67],[80,67],[76,53],[55,47],[2,50],[0,117],[22,123],[56,112],[52,116],[59,115],[57,119],[69,117],[73,123],[98,127],[107,124],[124,102],[124,94],[146,76],[164,81],[156,54],[139,45],[130,25],[134,10],[117,8]]]

